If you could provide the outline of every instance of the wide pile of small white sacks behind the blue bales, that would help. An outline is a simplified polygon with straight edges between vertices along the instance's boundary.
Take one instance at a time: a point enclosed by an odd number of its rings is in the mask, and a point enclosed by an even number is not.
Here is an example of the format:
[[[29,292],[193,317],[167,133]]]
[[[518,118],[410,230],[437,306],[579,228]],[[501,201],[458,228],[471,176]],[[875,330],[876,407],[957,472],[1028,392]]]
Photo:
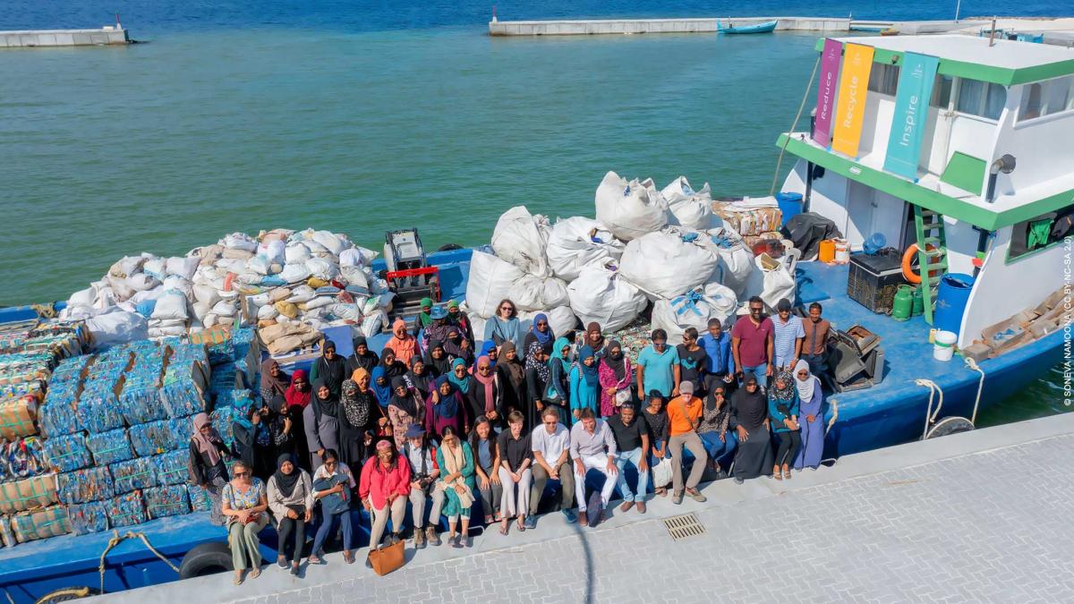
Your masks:
[[[376,255],[330,231],[232,233],[185,257],[121,258],[73,293],[63,315],[86,319],[98,345],[184,335],[236,320],[288,326],[272,330],[285,335],[337,325],[373,335],[388,327],[393,296],[369,269]],[[288,342],[299,340],[306,339]]]

